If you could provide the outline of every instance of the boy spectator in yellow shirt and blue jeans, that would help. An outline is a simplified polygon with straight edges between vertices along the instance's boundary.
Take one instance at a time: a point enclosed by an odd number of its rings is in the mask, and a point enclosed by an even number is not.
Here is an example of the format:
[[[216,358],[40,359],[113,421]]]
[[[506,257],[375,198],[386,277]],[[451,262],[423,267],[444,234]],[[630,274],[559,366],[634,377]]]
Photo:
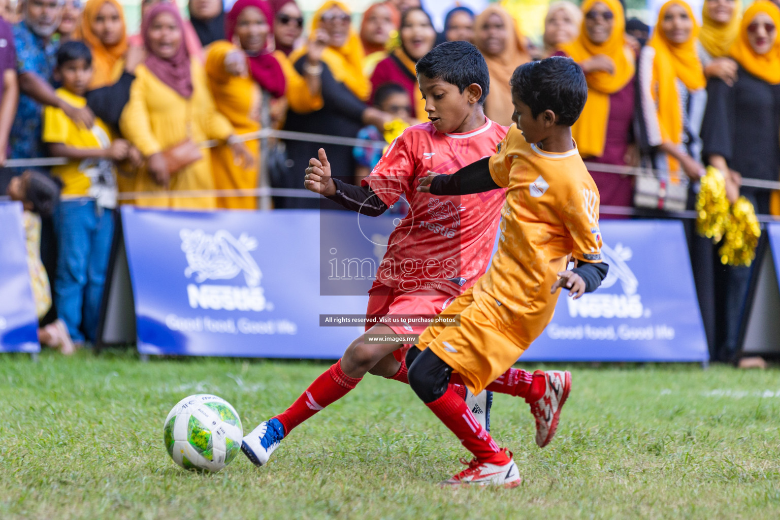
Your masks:
[[[81,41],[57,51],[57,90],[69,104],[83,107],[92,79],[92,55]],[[62,201],[55,213],[59,243],[55,302],[76,343],[94,341],[105,272],[114,233],[115,165],[140,157],[126,140],[111,139],[108,127],[95,119],[90,129],[78,126],[59,108],[44,109],[43,141],[49,153],[71,161],[51,168],[62,180]]]

